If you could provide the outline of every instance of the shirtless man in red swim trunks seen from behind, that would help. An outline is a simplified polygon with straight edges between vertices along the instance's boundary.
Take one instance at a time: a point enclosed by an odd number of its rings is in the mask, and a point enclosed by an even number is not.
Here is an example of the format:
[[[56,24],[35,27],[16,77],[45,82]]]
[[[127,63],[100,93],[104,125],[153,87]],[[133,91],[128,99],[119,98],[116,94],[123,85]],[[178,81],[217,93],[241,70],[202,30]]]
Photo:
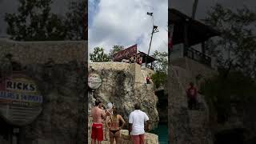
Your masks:
[[[98,144],[100,144],[103,141],[103,120],[106,119],[106,116],[109,114],[106,114],[104,110],[102,110],[102,102],[97,99],[95,101],[95,106],[91,110],[91,115],[93,117],[93,126],[91,130],[91,143],[96,144],[96,139],[98,141]]]

